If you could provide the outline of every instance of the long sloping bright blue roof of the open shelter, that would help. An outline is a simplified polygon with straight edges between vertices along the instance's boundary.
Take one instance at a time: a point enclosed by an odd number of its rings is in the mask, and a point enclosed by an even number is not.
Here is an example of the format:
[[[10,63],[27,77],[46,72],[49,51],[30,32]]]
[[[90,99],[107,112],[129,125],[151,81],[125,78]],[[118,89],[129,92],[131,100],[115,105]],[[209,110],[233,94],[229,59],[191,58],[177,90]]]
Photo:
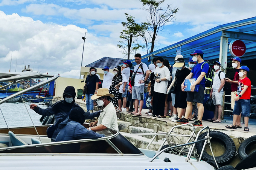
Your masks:
[[[142,62],[150,64],[148,62],[148,56],[152,57],[163,57],[169,60],[170,64],[174,63],[174,58],[176,56],[176,48],[181,47],[181,55],[188,61],[190,55],[194,49],[201,49],[204,52],[204,60],[216,60],[219,58],[220,49],[220,37],[223,30],[234,31],[239,33],[256,34],[256,17],[244,19],[241,21],[231,22],[224,25],[219,25],[210,30],[204,31],[195,36],[189,37],[185,40],[177,42],[173,45],[166,46],[165,48],[158,49],[152,53],[142,56]],[[232,41],[229,38],[229,43]],[[242,60],[249,60],[251,58],[256,58],[256,41],[243,40],[246,45],[246,53],[242,56]],[[232,56],[228,52],[228,58]],[[152,58],[151,58],[152,59]],[[133,64],[136,64],[132,60]]]

